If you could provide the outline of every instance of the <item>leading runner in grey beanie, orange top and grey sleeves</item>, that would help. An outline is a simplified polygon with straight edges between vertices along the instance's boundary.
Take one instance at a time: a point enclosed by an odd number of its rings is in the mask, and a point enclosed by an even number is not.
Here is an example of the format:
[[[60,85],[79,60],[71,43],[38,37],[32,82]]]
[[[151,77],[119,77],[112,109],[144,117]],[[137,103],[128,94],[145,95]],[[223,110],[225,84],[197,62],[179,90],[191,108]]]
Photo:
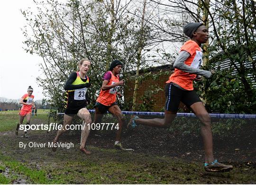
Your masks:
[[[133,116],[128,126],[137,124],[169,128],[176,117],[180,101],[192,109],[201,121],[201,135],[204,143],[204,168],[210,172],[229,171],[233,167],[214,160],[212,147],[212,133],[210,115],[206,111],[200,98],[193,90],[193,81],[201,80],[200,76],[211,77],[211,72],[200,69],[202,63],[201,44],[209,38],[208,30],[202,23],[188,23],[183,28],[184,34],[191,38],[181,47],[180,53],[174,62],[174,74],[169,77],[165,86],[165,118],[141,119]]]

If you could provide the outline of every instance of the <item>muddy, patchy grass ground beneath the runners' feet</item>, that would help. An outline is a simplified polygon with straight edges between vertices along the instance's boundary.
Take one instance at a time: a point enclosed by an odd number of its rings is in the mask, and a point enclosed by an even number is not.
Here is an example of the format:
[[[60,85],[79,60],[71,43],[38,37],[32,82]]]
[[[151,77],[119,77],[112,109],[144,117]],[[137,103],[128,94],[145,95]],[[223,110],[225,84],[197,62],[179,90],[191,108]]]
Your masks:
[[[31,124],[36,123],[32,120]],[[219,161],[232,164],[225,173],[203,170],[204,152],[197,134],[181,135],[166,129],[138,126],[124,129],[122,145],[134,152],[113,149],[115,133],[91,131],[88,138],[90,156],[79,152],[79,133],[68,133],[60,141],[74,143],[74,148],[19,148],[18,143],[51,142],[55,131],[29,133],[25,139],[13,131],[0,133],[0,152],[30,169],[43,170],[46,183],[63,184],[255,184],[256,183],[256,125],[244,127],[229,137],[214,136],[214,155]],[[1,161],[2,160],[2,161]],[[0,158],[5,163],[6,158]],[[16,173],[13,184],[38,183],[24,173]],[[40,182],[39,182],[40,183]]]

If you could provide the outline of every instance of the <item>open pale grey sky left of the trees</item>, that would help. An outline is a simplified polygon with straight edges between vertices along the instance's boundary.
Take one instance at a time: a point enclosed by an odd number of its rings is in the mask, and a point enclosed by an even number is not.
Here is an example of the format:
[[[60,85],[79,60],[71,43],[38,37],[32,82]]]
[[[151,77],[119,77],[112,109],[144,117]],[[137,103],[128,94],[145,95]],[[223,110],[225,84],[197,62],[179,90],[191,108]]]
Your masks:
[[[37,86],[41,58],[26,53],[21,28],[26,24],[20,9],[35,8],[33,0],[4,0],[0,2],[0,97],[19,99],[34,88],[35,100],[43,99],[42,88]]]

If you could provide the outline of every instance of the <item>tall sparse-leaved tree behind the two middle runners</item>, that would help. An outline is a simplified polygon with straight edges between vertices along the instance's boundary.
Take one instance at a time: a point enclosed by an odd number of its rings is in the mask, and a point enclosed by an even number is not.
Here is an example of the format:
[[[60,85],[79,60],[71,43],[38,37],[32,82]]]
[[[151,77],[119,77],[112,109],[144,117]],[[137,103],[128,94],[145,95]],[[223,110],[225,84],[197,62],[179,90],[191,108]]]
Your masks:
[[[27,20],[23,29],[25,50],[42,57],[44,76],[37,81],[59,111],[64,108],[64,82],[77,70],[77,62],[82,58],[92,62],[88,74],[92,80],[92,101],[99,94],[101,78],[112,59],[124,63],[122,78],[126,79],[137,52],[137,23],[128,12],[133,6],[131,1],[46,0],[37,4],[37,13],[22,11]]]

